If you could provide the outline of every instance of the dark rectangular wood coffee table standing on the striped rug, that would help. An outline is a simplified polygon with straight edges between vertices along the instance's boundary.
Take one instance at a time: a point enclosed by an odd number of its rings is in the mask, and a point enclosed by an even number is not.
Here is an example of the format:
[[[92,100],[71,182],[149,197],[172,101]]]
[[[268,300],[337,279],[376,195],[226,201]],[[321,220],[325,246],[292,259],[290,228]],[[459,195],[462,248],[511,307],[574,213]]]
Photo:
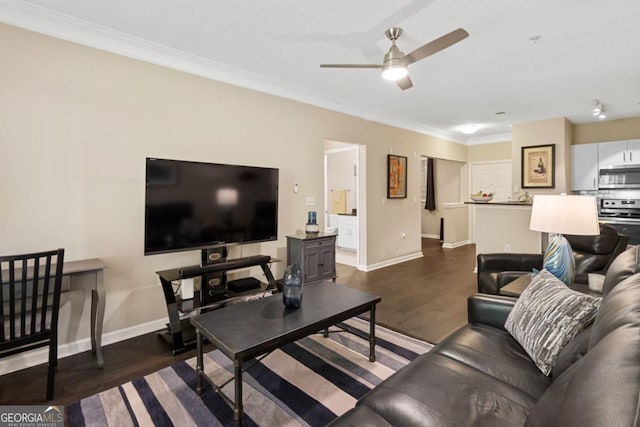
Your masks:
[[[369,360],[375,361],[375,310],[380,297],[334,283],[316,283],[304,287],[303,302],[298,309],[287,309],[282,294],[233,305],[193,317],[196,329],[198,384],[203,379],[234,406],[233,418],[242,425],[242,365],[245,361],[269,353],[286,344],[369,312]],[[202,341],[206,338],[233,360],[235,401],[222,393],[225,384],[213,384],[203,369]]]

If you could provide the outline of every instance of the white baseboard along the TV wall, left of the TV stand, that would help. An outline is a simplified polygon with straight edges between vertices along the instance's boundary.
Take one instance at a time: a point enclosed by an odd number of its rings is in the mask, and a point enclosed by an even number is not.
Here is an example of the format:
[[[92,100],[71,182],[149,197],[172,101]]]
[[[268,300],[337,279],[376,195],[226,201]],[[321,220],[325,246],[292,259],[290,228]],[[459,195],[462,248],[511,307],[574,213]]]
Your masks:
[[[142,323],[140,325],[131,326],[129,328],[108,332],[102,335],[102,347],[104,348],[104,346],[108,344],[113,344],[149,332],[164,329],[168,321],[168,318],[158,319],[151,322]],[[61,344],[58,346],[58,359],[62,359],[89,350],[91,350],[90,338],[83,338],[67,344]],[[42,365],[43,363],[47,363],[48,360],[48,347],[16,354],[15,356],[7,357],[6,359],[2,360],[2,363],[0,363],[0,375],[19,371],[21,369],[31,368],[37,365]],[[105,365],[108,364],[109,359],[105,358],[104,363]]]

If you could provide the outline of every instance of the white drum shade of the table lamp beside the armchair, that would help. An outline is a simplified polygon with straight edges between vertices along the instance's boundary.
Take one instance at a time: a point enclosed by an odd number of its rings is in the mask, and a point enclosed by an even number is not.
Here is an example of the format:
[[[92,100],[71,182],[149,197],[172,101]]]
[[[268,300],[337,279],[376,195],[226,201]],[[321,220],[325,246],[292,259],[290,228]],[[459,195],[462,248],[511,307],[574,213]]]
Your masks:
[[[533,198],[529,228],[545,233],[598,235],[596,199],[593,196],[538,194]]]

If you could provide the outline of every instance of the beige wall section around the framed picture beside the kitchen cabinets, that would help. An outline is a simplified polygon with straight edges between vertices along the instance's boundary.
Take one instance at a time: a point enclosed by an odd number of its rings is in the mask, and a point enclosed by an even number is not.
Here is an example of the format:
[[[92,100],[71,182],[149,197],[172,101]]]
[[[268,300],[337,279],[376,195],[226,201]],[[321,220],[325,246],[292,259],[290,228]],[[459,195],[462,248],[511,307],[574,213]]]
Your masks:
[[[564,117],[540,120],[530,123],[513,125],[513,142],[511,158],[513,159],[513,185],[521,184],[521,149],[535,145],[555,144],[555,188],[553,189],[520,189],[519,193],[528,191],[531,194],[559,194],[567,192],[568,165],[571,160],[571,139],[573,125]],[[518,193],[514,191],[514,193]]]

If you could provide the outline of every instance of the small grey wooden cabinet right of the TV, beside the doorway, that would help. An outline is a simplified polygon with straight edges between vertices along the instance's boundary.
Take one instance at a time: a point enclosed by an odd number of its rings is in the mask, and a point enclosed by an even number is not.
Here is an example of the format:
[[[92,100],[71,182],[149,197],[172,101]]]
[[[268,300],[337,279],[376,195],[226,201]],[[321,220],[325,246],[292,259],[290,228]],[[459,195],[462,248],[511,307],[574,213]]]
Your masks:
[[[287,236],[287,265],[297,262],[302,283],[336,280],[336,234],[296,234]]]

